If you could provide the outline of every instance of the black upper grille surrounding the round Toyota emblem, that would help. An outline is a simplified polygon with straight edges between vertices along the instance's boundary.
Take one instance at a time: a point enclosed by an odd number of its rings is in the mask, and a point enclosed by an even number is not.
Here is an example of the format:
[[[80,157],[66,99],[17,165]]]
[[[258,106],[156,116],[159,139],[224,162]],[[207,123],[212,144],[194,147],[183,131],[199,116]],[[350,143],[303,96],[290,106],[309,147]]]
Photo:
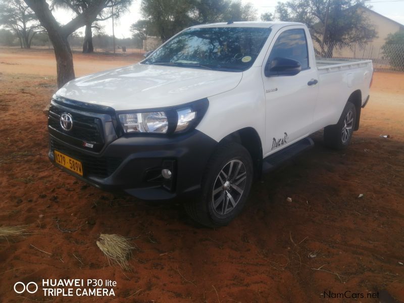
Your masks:
[[[65,112],[61,108],[51,106],[49,108],[49,127],[80,141],[104,144],[103,126],[100,119],[69,112],[73,118],[73,128],[70,131],[65,131],[60,125],[60,116]]]

